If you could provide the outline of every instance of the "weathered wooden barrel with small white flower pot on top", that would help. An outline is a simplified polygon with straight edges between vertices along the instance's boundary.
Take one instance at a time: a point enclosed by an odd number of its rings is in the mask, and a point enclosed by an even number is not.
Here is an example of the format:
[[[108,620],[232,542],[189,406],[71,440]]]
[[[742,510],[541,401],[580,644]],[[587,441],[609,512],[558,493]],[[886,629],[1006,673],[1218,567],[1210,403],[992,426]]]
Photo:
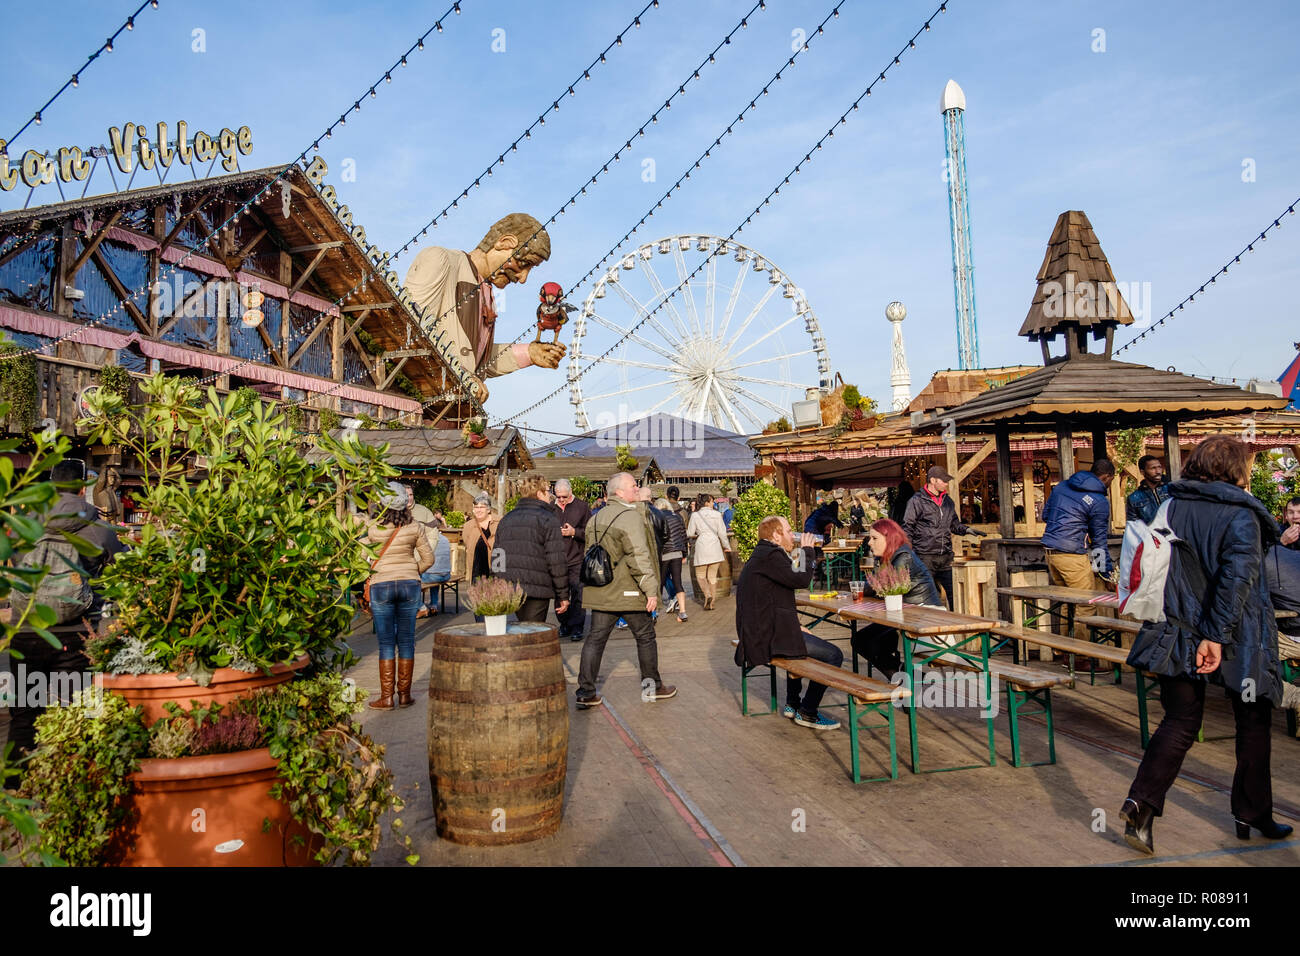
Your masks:
[[[434,636],[429,783],[438,835],[474,847],[526,843],[564,816],[568,697],[559,635],[516,623]]]

